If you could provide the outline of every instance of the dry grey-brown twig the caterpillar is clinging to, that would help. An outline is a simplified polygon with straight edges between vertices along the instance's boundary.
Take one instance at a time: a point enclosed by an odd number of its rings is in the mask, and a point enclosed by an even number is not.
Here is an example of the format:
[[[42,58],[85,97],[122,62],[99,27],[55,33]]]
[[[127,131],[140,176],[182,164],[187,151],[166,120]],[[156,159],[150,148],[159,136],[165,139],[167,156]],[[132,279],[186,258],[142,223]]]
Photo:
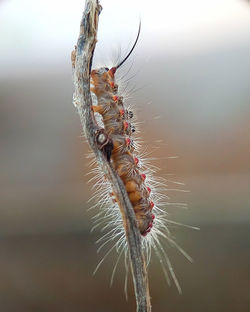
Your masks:
[[[87,0],[83,12],[80,35],[77,46],[72,52],[72,67],[75,92],[73,103],[80,115],[84,134],[95,153],[96,160],[104,175],[111,182],[117,195],[120,209],[125,216],[124,226],[128,242],[133,275],[136,305],[138,312],[150,312],[150,296],[145,260],[141,247],[141,234],[136,225],[133,207],[128,198],[126,189],[118,174],[107,161],[103,152],[98,148],[96,133],[99,130],[91,110],[90,71],[95,44],[97,42],[98,17],[101,6],[98,0]]]

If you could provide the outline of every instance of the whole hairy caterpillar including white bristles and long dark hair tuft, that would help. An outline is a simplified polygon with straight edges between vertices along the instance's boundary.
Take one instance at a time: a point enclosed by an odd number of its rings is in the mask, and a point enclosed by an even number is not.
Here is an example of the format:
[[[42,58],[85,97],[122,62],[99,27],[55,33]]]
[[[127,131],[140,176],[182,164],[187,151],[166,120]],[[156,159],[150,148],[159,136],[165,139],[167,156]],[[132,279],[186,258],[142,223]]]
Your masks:
[[[160,179],[153,179],[154,170],[145,165],[143,159],[138,155],[138,147],[132,138],[132,134],[135,132],[131,122],[133,112],[125,106],[115,80],[116,71],[131,55],[139,34],[140,27],[132,49],[122,62],[111,68],[101,67],[91,71],[91,91],[94,103],[92,110],[95,113],[96,122],[101,125],[100,130],[96,133],[96,141],[124,183],[134,209],[138,229],[142,235],[142,246],[147,262],[149,262],[151,250],[153,250],[160,260],[167,280],[169,281],[169,271],[180,291],[164,245],[174,246],[189,260],[191,258],[177,245],[170,234],[169,224],[177,223],[168,220],[167,212],[162,209],[164,199],[167,198],[164,194],[165,183]],[[107,230],[98,241],[102,243],[99,250],[115,241],[96,270],[111,251],[116,249],[119,256],[112,280],[123,253],[125,254],[125,267],[128,270],[123,216],[119,211],[116,194],[111,189],[109,181],[103,177],[103,173],[99,169],[94,173],[97,178],[94,188],[99,193],[95,197],[99,198],[97,205],[100,206],[100,211],[95,216],[94,227],[103,226],[103,231]]]

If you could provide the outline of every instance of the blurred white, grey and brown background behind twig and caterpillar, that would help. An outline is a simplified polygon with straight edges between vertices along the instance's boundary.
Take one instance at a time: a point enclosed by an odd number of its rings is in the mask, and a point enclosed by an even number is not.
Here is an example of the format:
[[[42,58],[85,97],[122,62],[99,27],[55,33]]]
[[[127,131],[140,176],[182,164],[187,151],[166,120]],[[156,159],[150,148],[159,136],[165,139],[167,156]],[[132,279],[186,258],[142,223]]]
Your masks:
[[[194,258],[169,250],[183,295],[152,259],[153,311],[249,311],[249,2],[101,4],[94,65],[125,56],[141,18],[121,90],[170,202],[189,206],[167,206],[170,218],[201,228],[172,229]],[[92,276],[103,253],[100,232],[90,233],[88,146],[70,63],[83,8],[79,0],[0,1],[0,311],[135,311],[123,263],[109,288],[117,255]]]

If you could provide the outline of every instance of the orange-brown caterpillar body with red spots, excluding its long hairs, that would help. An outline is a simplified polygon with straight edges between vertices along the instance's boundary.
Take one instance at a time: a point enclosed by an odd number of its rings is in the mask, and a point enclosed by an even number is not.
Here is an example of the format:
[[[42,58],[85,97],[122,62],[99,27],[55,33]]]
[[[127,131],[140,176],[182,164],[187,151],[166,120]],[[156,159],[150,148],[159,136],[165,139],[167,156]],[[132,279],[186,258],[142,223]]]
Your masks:
[[[92,70],[91,91],[97,97],[97,105],[92,109],[102,116],[104,130],[113,144],[111,164],[125,185],[138,228],[145,236],[153,226],[154,203],[150,199],[151,189],[145,184],[146,175],[140,172],[139,160],[134,155],[131,135],[135,129],[130,123],[133,113],[124,107],[123,98],[117,93],[116,69],[117,67]]]

